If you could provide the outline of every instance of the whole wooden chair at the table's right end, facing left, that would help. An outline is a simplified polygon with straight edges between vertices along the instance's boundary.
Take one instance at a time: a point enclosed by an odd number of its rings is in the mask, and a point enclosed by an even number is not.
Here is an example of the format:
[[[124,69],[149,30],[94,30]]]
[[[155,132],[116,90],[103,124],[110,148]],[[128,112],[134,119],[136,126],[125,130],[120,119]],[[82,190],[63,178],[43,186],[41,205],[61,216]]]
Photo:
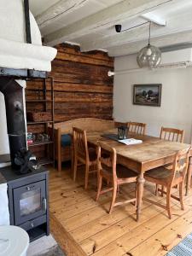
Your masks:
[[[146,172],[144,175],[148,182],[156,183],[161,185],[163,188],[166,187],[166,191],[162,190],[163,194],[166,194],[166,206],[148,199],[144,200],[166,209],[169,218],[172,218],[171,197],[180,201],[181,209],[184,209],[183,187],[189,163],[189,150],[190,147],[177,152],[175,160],[172,163],[172,171],[167,170],[164,166],[160,166]],[[172,195],[172,188],[176,185],[179,185],[179,197]]]

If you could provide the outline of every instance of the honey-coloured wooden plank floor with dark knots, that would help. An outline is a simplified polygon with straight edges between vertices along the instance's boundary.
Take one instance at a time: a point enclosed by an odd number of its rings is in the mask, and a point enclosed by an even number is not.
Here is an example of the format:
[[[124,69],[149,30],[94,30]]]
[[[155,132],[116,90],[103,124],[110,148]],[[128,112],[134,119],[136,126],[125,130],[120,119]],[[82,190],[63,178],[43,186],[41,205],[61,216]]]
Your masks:
[[[134,184],[120,189],[119,199],[134,196]],[[173,191],[177,194],[177,189]],[[144,195],[154,201],[165,202],[165,197],[154,196],[154,185],[146,184]],[[84,172],[79,170],[73,182],[69,168],[56,177],[49,175],[50,228],[61,248],[71,255],[165,255],[179,241],[192,232],[192,193],[185,197],[185,210],[172,200],[172,219],[160,207],[143,202],[142,218],[136,222],[136,208],[127,204],[115,207],[109,215],[111,194],[102,195],[98,202],[96,177],[91,177],[84,190]]]

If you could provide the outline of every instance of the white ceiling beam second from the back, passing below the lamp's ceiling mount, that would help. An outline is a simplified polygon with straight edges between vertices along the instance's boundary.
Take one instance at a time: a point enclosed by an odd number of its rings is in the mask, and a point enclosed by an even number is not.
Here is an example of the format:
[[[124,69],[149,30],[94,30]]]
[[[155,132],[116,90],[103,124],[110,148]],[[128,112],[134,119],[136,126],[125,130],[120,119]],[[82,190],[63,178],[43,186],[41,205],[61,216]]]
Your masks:
[[[184,24],[184,29],[183,29]],[[151,26],[151,38],[164,37],[166,35],[192,30],[192,16],[191,12],[185,12],[181,15],[177,15],[172,19],[169,19],[167,26],[157,26],[154,23]],[[79,41],[81,51],[90,51],[92,49],[108,49],[121,44],[131,44],[132,42],[145,40],[145,44],[148,41],[148,23],[137,28],[121,32],[114,33],[112,36],[98,36],[91,35],[91,39],[82,38]],[[183,38],[184,40],[184,38]]]

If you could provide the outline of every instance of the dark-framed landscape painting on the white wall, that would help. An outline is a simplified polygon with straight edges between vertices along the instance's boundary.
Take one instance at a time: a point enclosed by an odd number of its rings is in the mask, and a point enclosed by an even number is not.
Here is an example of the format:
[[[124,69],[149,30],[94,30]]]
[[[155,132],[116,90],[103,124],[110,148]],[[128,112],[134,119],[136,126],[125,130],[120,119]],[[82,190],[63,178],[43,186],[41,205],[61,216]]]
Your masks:
[[[162,84],[134,84],[133,104],[160,107]]]

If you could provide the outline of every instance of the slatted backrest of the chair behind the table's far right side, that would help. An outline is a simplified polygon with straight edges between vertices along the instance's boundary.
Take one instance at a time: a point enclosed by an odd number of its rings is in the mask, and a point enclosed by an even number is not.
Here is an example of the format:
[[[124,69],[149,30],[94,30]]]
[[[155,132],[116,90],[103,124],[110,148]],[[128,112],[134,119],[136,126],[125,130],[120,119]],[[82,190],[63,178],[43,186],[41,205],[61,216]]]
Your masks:
[[[175,128],[161,127],[160,129],[160,139],[183,143],[184,131]]]

